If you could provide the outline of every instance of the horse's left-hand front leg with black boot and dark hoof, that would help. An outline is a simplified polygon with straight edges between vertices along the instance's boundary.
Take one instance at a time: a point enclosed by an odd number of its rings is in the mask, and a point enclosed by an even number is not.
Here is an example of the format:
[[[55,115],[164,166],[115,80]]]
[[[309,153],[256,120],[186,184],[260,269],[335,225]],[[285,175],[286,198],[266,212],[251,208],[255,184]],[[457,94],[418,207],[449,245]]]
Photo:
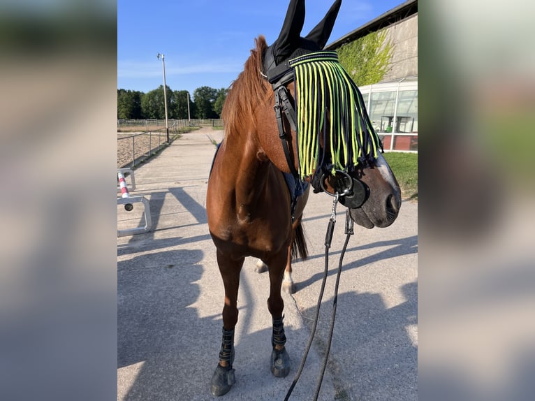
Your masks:
[[[225,286],[225,305],[223,306],[223,335],[219,363],[212,376],[212,394],[223,395],[230,391],[235,382],[234,369],[234,328],[237,323],[237,290],[240,286],[240,272],[244,258],[237,261],[217,251],[217,264]]]

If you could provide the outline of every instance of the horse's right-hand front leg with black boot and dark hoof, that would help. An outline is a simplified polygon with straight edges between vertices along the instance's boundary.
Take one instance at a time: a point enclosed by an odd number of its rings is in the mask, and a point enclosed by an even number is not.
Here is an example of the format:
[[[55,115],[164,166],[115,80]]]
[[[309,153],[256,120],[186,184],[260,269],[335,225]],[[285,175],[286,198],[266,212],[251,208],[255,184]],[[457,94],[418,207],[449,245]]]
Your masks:
[[[271,372],[275,377],[286,377],[290,372],[290,357],[286,352],[286,335],[284,335],[284,323],[282,311],[284,301],[281,297],[281,284],[286,268],[288,256],[286,252],[281,252],[268,261],[270,272],[270,298],[268,298],[268,309],[272,316],[273,331],[271,344]]]

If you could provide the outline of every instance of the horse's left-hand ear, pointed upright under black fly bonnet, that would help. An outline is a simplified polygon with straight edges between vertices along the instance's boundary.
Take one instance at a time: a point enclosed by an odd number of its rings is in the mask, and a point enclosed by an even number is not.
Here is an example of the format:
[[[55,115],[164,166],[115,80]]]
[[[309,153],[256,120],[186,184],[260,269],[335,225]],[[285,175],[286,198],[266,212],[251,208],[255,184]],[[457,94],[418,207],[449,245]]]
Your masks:
[[[277,63],[286,59],[298,47],[303,24],[305,24],[305,0],[291,0],[281,33],[274,43]]]

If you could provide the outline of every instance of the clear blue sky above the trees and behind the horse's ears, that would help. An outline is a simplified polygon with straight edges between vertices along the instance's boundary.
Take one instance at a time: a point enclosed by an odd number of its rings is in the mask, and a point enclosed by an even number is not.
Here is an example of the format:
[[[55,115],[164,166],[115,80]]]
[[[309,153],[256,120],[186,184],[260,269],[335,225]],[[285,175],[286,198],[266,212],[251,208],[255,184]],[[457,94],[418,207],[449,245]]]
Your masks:
[[[334,0],[307,0],[306,36]],[[403,3],[342,0],[328,43]],[[166,83],[190,94],[228,87],[242,71],[254,38],[279,36],[289,0],[117,0],[117,88],[149,92]]]

